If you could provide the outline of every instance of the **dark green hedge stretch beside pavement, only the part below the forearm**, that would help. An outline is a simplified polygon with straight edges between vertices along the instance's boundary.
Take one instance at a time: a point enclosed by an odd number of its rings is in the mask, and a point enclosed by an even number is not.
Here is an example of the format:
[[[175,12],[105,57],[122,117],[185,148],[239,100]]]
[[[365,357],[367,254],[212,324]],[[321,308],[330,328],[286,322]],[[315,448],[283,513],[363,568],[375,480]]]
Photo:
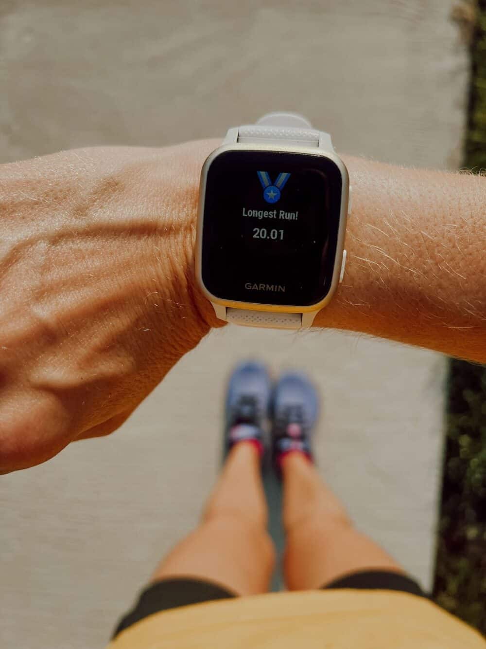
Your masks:
[[[450,361],[437,604],[486,633],[486,368]]]

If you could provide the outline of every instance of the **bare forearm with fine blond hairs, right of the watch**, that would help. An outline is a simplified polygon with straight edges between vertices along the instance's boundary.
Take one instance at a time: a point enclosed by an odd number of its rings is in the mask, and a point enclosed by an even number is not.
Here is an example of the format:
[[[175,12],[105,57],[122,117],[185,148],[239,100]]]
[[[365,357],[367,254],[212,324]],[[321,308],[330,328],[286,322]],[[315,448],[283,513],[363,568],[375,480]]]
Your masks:
[[[486,361],[486,178],[344,158],[353,184],[331,326]]]

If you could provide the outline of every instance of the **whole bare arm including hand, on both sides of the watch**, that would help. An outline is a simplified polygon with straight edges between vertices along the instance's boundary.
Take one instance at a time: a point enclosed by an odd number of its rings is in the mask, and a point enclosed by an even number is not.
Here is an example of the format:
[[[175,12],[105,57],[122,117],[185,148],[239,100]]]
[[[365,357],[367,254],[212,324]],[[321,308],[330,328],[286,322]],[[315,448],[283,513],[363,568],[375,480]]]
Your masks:
[[[216,145],[0,166],[0,472],[112,432],[222,324],[193,269]],[[485,179],[345,162],[349,262],[316,324],[485,360]]]

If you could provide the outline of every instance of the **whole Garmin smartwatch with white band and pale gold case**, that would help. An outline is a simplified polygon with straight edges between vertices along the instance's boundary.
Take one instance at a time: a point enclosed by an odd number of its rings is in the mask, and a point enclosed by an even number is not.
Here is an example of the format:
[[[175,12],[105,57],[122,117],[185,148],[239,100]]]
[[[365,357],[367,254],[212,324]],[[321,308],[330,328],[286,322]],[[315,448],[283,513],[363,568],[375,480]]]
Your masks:
[[[347,169],[328,133],[271,113],[229,129],[201,173],[196,277],[216,317],[307,328],[343,278]]]

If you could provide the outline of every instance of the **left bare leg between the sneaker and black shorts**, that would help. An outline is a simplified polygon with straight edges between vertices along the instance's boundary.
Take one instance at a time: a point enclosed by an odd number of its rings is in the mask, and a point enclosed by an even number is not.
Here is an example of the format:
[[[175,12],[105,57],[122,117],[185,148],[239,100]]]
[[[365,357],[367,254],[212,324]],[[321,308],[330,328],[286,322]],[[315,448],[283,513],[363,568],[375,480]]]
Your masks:
[[[152,580],[189,576],[239,595],[264,593],[275,563],[266,522],[259,451],[251,443],[237,443],[200,526],[163,559]]]

